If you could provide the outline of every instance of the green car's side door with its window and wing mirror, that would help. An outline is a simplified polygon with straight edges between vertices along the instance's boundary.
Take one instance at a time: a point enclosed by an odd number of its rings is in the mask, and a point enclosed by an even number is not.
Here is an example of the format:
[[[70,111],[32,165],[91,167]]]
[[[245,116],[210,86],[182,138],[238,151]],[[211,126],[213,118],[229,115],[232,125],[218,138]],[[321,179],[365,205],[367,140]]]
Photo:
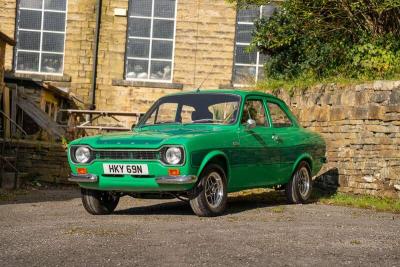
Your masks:
[[[254,128],[248,128],[248,119],[255,121]],[[263,97],[246,99],[238,135],[239,142],[232,155],[235,175],[232,187],[244,189],[274,184],[279,177],[278,143],[272,140]]]

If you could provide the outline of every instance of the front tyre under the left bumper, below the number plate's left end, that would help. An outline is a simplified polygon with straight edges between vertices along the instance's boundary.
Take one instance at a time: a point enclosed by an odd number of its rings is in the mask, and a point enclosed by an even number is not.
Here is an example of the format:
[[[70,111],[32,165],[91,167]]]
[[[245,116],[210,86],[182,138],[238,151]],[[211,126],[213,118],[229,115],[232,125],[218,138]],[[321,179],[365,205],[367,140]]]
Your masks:
[[[110,214],[117,207],[119,196],[110,192],[81,189],[83,207],[92,215]]]

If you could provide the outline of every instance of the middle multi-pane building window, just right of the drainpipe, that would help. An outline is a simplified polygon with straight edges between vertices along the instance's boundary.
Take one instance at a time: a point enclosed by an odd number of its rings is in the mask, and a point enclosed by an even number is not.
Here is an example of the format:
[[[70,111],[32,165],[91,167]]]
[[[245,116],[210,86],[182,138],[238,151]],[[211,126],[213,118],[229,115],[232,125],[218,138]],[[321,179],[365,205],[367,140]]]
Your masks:
[[[130,0],[127,80],[172,81],[176,0]]]

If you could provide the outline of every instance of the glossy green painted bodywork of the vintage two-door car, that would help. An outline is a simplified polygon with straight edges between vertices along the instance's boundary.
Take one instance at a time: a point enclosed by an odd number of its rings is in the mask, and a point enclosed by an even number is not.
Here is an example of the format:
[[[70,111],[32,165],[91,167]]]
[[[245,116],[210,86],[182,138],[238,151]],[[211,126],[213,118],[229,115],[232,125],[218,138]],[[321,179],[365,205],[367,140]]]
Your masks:
[[[193,92],[191,92],[193,94]],[[159,185],[156,178],[168,175],[169,168],[178,168],[181,175],[199,175],[214,157],[222,157],[228,162],[228,189],[230,192],[256,187],[271,187],[287,183],[301,160],[308,160],[312,174],[322,167],[325,156],[325,142],[317,133],[301,128],[288,107],[276,97],[260,92],[236,90],[201,91],[199,94],[235,94],[241,96],[239,118],[243,113],[247,98],[264,101],[267,120],[272,125],[266,101],[279,104],[292,121],[287,128],[257,126],[247,129],[240,119],[232,125],[219,124],[165,124],[135,128],[132,132],[99,135],[77,139],[69,144],[88,145],[93,149],[150,149],[158,150],[165,145],[180,145],[185,150],[182,166],[166,166],[154,160],[101,160],[90,164],[74,164],[71,155],[68,160],[73,173],[77,167],[86,167],[89,173],[99,176],[94,184],[81,183],[85,188],[116,190],[126,192],[170,192],[185,191],[190,185]],[[185,94],[185,93],[180,93]],[[279,141],[273,140],[278,135]],[[147,164],[148,177],[104,176],[103,163]]]

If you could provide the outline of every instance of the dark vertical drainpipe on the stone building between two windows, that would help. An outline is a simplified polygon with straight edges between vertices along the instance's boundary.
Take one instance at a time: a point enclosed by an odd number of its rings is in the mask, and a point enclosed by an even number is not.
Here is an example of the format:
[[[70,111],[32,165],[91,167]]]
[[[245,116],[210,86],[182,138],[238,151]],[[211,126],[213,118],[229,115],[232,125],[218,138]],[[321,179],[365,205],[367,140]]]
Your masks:
[[[93,65],[92,65],[92,81],[89,92],[90,109],[96,109],[96,79],[97,79],[97,56],[99,50],[99,38],[100,38],[100,25],[101,25],[101,5],[102,0],[96,1],[96,28],[94,32],[93,40]]]

